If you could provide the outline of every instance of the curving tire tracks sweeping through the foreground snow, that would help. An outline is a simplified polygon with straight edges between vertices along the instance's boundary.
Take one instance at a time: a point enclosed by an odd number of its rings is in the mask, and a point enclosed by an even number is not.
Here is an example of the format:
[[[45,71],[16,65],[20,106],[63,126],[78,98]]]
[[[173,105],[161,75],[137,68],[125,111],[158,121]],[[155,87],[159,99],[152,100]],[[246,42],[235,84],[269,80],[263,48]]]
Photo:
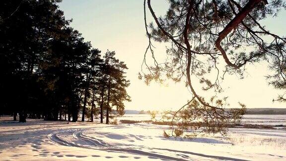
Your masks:
[[[190,161],[190,159],[186,160],[186,157],[182,158],[175,158],[175,157],[169,157],[165,155],[150,153],[150,152],[144,152],[141,150],[137,150],[136,148],[123,146],[123,147],[116,147],[113,145],[110,145],[100,139],[96,139],[91,136],[86,136],[82,134],[82,132],[87,131],[86,129],[69,129],[69,130],[61,130],[56,131],[48,135],[48,138],[50,141],[62,145],[62,146],[69,146],[69,147],[78,147],[78,148],[88,148],[88,149],[94,149],[94,150],[100,150],[100,151],[107,151],[107,152],[125,152],[129,154],[134,155],[140,155],[140,156],[147,156],[150,158],[157,158],[162,160],[171,160],[171,161]],[[68,135],[68,137],[67,137]],[[67,138],[71,138],[74,140],[65,140]],[[141,147],[143,148],[143,147]],[[240,160],[235,158],[228,158],[228,157],[220,157],[220,156],[209,156],[199,153],[192,153],[192,152],[185,152],[185,151],[176,151],[176,150],[170,150],[170,149],[159,149],[159,148],[153,148],[157,150],[163,150],[167,152],[175,152],[182,154],[183,156],[186,156],[186,154],[189,155],[195,155],[200,157],[205,157],[209,159],[216,159],[216,160],[232,160],[232,161],[246,161],[246,160]],[[182,157],[181,155],[177,155]]]

